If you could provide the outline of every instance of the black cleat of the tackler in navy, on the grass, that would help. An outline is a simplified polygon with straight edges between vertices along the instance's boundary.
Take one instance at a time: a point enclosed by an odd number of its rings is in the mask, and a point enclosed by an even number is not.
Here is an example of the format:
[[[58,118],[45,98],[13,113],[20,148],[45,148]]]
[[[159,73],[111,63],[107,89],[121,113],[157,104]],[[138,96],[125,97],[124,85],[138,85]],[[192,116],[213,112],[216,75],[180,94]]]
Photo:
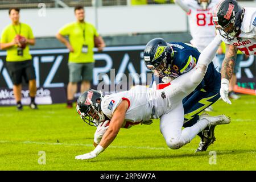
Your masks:
[[[195,152],[206,151],[210,144],[212,144],[216,140],[216,138],[214,137],[214,128],[215,126],[210,126],[209,130],[202,131],[203,138],[201,138],[199,147],[196,149]]]

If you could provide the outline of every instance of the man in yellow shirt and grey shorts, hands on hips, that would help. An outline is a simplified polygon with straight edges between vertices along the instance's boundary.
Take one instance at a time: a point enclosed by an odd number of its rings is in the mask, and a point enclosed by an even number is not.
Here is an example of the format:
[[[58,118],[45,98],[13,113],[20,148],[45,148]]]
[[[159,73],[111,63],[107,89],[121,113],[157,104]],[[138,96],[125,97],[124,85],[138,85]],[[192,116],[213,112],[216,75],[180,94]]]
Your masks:
[[[57,33],[56,38],[65,44],[69,49],[69,82],[67,88],[67,107],[71,108],[75,93],[77,92],[77,82],[81,81],[80,92],[90,88],[93,78],[93,48],[97,46],[98,51],[105,47],[104,40],[98,34],[93,24],[85,22],[84,7],[75,7],[77,21],[69,23]],[[68,36],[69,41],[64,38]],[[97,43],[97,45],[95,45]]]

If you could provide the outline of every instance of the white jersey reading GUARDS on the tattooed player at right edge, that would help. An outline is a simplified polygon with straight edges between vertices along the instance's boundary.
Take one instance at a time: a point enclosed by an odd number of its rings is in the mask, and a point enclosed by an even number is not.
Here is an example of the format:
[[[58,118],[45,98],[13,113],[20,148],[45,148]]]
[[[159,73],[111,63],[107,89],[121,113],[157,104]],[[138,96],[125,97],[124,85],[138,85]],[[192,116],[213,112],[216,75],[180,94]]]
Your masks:
[[[218,35],[220,35],[219,32]],[[224,37],[220,36],[220,38],[226,44],[233,45],[246,55],[256,55],[256,8],[245,8],[239,40],[235,38],[228,42]]]

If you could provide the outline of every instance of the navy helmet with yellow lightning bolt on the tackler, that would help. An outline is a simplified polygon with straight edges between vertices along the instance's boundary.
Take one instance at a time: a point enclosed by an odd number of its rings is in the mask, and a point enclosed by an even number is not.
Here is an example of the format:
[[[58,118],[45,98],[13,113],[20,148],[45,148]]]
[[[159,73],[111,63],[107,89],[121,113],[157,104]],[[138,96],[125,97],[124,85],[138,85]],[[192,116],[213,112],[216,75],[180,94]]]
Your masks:
[[[173,59],[174,50],[162,38],[150,40],[144,49],[144,63],[158,77],[172,76]]]

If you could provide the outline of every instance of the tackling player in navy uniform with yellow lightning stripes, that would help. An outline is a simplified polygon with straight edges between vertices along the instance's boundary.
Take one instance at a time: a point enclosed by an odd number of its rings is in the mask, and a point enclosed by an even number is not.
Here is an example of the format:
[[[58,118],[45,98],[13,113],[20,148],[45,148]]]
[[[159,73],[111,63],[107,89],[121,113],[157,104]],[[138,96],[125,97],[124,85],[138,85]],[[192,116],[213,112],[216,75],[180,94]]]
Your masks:
[[[144,62],[154,73],[152,82],[170,82],[189,72],[197,64],[200,52],[191,44],[181,42],[167,43],[162,38],[155,38],[147,43],[144,50]],[[221,74],[216,71],[213,63],[200,85],[183,99],[184,127],[190,127],[199,120],[199,113],[220,98]],[[205,128],[198,134],[201,138],[196,152],[206,151],[216,140],[214,126]]]

